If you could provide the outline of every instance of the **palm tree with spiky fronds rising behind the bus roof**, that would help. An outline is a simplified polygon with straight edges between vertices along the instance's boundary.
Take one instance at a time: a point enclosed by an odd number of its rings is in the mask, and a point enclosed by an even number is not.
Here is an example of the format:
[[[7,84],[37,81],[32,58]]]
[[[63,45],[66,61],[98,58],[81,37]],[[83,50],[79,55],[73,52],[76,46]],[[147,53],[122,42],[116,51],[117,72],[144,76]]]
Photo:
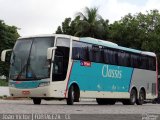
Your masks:
[[[84,13],[78,12],[76,18],[79,18],[77,22],[77,32],[75,36],[83,37],[95,37],[101,38],[104,33],[104,27],[102,17],[98,14],[98,8],[85,8]]]

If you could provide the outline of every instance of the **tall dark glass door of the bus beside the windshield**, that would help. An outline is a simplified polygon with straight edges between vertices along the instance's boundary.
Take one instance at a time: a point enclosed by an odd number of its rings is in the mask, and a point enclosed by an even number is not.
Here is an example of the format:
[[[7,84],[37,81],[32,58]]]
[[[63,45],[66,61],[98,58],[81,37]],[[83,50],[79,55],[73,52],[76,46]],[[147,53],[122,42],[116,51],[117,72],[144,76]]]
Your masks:
[[[64,81],[66,79],[69,52],[70,52],[70,39],[57,38],[56,51],[53,61],[52,81]]]

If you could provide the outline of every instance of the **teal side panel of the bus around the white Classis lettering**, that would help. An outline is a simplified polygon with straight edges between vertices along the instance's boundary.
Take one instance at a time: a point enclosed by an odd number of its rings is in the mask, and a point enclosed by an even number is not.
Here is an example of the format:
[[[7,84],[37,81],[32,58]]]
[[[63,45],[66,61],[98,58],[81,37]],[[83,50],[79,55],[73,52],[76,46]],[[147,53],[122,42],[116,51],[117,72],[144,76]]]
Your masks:
[[[109,70],[121,71],[121,77],[103,76],[102,69],[106,64],[91,63],[91,67],[81,66],[77,60],[73,64],[69,86],[76,82],[82,91],[128,92],[133,68],[106,65]],[[107,74],[107,69],[103,70]],[[68,87],[69,87],[68,86]]]

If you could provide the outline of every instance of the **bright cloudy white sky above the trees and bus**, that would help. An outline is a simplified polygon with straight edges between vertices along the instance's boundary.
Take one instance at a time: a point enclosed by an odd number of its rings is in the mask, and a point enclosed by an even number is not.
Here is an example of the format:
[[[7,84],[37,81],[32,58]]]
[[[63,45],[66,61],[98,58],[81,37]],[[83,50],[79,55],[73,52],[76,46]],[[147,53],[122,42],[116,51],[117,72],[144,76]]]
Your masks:
[[[160,11],[160,0],[0,0],[0,20],[18,27],[20,36],[52,34],[85,7],[98,7],[103,19],[113,23],[128,13]]]

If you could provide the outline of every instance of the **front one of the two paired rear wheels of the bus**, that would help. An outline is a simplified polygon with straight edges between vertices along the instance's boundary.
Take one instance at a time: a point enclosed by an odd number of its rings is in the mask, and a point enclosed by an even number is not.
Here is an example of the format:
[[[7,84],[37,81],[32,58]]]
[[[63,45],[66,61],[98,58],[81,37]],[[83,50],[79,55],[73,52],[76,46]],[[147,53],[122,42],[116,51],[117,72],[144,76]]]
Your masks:
[[[130,98],[123,100],[122,103],[123,105],[134,105],[136,103],[136,100],[137,100],[137,92],[135,89],[132,89],[130,93]]]

